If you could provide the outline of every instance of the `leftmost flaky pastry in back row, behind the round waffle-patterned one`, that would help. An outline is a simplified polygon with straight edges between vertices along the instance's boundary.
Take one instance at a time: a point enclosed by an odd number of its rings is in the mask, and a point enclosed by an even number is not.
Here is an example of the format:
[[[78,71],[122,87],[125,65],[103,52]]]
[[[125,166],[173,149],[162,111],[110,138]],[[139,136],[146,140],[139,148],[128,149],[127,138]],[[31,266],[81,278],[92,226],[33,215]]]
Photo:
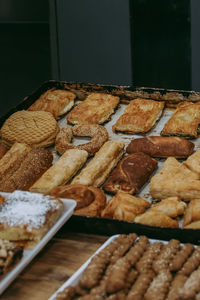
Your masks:
[[[42,94],[29,108],[29,111],[48,111],[55,119],[66,114],[74,105],[76,95],[66,90],[52,88]]]

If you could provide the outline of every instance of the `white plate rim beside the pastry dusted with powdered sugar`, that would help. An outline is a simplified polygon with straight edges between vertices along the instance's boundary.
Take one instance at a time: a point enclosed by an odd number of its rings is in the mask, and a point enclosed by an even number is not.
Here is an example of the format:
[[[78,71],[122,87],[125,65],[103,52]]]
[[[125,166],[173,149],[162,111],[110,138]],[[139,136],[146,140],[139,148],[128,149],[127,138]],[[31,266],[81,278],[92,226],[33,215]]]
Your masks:
[[[6,196],[7,193],[0,193]],[[37,194],[36,194],[37,197]],[[11,282],[19,275],[19,273],[30,263],[30,261],[42,250],[42,248],[49,242],[55,233],[66,223],[71,217],[76,206],[76,201],[71,199],[61,199],[64,204],[62,215],[57,222],[50,228],[47,234],[40,240],[40,242],[31,250],[24,250],[24,254],[19,263],[8,273],[6,273],[0,281],[0,295],[11,284]]]

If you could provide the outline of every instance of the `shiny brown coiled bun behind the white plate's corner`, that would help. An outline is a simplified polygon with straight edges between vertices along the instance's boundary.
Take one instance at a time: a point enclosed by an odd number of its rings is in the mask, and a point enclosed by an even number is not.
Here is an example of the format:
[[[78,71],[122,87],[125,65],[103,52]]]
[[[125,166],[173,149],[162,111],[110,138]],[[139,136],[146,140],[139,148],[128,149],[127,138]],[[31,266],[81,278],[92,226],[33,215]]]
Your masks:
[[[69,184],[53,188],[50,195],[58,198],[70,198],[77,202],[74,215],[100,216],[106,204],[104,192],[93,186]]]

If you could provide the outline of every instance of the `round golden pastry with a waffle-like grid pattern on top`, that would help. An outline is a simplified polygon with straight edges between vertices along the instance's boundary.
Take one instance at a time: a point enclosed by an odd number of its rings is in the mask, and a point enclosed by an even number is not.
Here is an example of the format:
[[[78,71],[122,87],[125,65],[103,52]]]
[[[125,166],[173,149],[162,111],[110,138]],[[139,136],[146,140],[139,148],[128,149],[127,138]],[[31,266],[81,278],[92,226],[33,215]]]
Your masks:
[[[54,143],[58,131],[58,124],[51,113],[21,110],[5,121],[1,137],[8,146],[18,142],[32,147],[47,147]]]

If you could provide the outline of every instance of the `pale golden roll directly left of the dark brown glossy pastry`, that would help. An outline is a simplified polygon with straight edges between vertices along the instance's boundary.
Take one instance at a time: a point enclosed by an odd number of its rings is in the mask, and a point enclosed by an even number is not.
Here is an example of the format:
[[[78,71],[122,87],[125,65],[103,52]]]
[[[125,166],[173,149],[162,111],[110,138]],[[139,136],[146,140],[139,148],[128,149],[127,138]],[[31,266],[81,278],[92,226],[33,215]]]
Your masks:
[[[118,163],[123,155],[123,150],[123,142],[106,142],[95,154],[94,158],[90,160],[88,165],[82,169],[80,174],[72,180],[72,184],[79,183],[99,187]]]

